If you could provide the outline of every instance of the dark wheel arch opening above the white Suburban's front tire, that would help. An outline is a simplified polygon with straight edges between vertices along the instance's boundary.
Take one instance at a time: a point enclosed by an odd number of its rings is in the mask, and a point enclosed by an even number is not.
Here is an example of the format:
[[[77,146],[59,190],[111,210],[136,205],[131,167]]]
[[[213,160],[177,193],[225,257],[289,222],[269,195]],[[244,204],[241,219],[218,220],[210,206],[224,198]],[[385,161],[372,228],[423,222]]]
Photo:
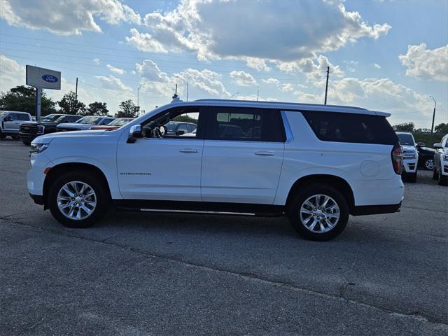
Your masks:
[[[90,163],[83,163],[83,162],[67,162],[67,163],[61,163],[59,165],[55,165],[50,169],[50,172],[46,174],[45,181],[43,181],[43,207],[44,209],[48,209],[48,189],[50,188],[51,182],[54,181],[57,176],[60,176],[60,174],[64,172],[73,172],[74,170],[83,170],[83,171],[89,171],[93,174],[97,175],[100,181],[104,184],[106,187],[107,193],[109,194],[109,197],[111,198],[111,186],[109,185],[109,182],[106,179],[106,175],[104,172],[102,172],[99,167],[95,165],[91,165]]]

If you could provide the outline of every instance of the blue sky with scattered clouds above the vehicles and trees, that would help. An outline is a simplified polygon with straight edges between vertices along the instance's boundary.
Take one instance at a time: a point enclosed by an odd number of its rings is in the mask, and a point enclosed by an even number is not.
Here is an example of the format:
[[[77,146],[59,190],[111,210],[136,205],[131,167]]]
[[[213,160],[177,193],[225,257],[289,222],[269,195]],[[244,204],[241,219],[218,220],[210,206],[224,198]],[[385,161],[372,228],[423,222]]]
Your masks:
[[[186,99],[323,103],[448,122],[448,1],[22,1],[0,3],[0,90],[25,64],[62,72],[59,99],[149,111]],[[237,93],[238,92],[238,93]]]

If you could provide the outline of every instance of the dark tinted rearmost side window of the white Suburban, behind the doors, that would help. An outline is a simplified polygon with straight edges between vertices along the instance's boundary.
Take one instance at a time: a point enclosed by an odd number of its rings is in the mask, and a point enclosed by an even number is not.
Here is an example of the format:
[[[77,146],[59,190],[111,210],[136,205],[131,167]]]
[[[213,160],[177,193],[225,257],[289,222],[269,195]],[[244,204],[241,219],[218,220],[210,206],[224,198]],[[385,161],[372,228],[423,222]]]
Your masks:
[[[322,141],[358,144],[398,144],[386,118],[356,113],[302,111],[316,137]]]

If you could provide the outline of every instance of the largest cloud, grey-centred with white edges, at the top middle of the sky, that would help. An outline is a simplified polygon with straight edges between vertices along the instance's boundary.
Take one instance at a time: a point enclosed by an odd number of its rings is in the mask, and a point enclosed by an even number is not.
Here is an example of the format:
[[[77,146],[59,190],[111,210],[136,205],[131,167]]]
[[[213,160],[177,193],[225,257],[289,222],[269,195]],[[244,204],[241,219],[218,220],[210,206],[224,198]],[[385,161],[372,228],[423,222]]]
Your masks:
[[[266,60],[316,59],[391,29],[386,23],[368,25],[341,1],[184,0],[167,13],[148,13],[144,22],[148,33],[134,29],[127,38],[139,50],[184,50],[198,59],[237,57],[258,70],[267,69]]]

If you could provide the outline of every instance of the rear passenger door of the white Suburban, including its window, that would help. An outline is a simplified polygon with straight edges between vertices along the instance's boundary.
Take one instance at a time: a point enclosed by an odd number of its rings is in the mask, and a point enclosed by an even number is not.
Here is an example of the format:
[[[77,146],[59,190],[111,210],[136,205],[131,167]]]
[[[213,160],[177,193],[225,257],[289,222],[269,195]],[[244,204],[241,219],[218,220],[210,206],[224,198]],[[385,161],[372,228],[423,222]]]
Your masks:
[[[279,111],[209,107],[202,200],[272,204],[283,162],[284,138]]]

